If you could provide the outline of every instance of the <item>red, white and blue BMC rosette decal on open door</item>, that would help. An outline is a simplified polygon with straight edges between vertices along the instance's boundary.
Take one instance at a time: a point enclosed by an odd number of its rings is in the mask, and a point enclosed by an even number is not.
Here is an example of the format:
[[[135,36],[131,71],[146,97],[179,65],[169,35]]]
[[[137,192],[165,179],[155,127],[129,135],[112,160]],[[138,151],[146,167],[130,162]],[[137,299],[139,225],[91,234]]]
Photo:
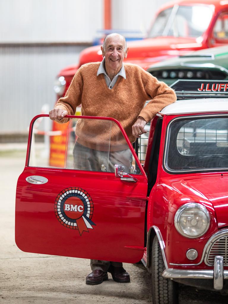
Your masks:
[[[96,226],[92,222],[93,201],[88,192],[81,188],[66,188],[55,200],[55,215],[59,222],[70,229],[89,232]]]

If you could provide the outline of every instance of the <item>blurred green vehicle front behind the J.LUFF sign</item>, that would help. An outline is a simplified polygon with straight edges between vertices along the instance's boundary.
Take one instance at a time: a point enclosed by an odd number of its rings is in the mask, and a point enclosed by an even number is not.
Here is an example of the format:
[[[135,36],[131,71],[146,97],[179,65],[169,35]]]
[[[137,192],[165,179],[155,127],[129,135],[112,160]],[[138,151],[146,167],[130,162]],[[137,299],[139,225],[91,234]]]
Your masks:
[[[228,80],[228,44],[164,60],[147,72],[168,85],[178,79]]]

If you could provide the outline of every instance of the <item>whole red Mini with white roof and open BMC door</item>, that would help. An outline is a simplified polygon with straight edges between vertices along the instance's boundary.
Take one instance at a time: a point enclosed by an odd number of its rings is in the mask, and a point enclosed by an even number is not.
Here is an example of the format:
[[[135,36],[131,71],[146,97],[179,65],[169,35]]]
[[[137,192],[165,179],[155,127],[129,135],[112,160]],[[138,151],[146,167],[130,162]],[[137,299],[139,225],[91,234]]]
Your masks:
[[[34,117],[16,191],[21,250],[127,263],[141,259],[151,272],[154,304],[178,303],[178,282],[226,290],[228,82],[178,81],[173,88],[183,100],[157,114],[135,150],[113,118],[69,116],[67,132],[56,133],[45,127],[51,122],[47,115]],[[85,136],[95,136],[89,128],[94,123],[107,138],[119,128],[116,140],[129,146],[132,166],[117,162],[110,169],[106,151],[100,171],[75,170],[73,131],[77,134],[79,120],[88,126]],[[50,136],[65,151],[64,168],[49,165]]]

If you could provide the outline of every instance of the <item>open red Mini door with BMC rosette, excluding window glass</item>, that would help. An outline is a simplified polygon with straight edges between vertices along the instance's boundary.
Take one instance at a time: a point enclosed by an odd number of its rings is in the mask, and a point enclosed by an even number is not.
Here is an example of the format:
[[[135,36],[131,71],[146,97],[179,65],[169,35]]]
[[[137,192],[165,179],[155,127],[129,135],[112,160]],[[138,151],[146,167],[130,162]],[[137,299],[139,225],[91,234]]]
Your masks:
[[[30,124],[26,166],[17,183],[17,246],[26,252],[42,254],[132,263],[139,261],[144,250],[147,200],[147,177],[141,164],[138,163],[138,168],[142,173],[135,174],[137,182],[121,180],[111,172],[33,167],[29,165],[33,126],[36,119],[42,117],[49,120],[48,115],[39,115]],[[102,119],[83,117],[87,118]],[[120,123],[112,118],[103,120],[117,123],[136,157]],[[47,182],[30,183],[29,177],[38,181],[46,178]],[[73,209],[69,210],[69,206]],[[75,206],[81,210],[75,212]],[[82,209],[87,209],[89,216],[85,212],[84,218],[78,218],[77,212]]]

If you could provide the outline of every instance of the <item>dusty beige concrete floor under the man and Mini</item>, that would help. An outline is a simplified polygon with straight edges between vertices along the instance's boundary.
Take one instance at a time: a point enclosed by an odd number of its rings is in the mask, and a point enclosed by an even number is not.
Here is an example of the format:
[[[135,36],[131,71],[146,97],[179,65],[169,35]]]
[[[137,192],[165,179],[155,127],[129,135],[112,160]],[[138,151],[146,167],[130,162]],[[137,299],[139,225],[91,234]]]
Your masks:
[[[0,148],[0,303],[87,304],[152,303],[150,275],[142,265],[125,264],[131,282],[111,279],[98,286],[85,285],[89,260],[22,252],[14,241],[16,182],[25,163],[25,151]],[[222,304],[228,296],[180,287],[180,304]]]

